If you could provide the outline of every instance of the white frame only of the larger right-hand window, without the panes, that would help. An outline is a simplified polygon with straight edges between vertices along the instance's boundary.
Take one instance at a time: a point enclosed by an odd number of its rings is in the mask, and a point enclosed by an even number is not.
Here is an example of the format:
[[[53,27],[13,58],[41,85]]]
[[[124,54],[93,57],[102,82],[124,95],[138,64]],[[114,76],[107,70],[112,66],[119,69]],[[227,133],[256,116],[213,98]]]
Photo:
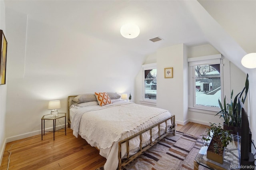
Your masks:
[[[219,111],[220,107],[210,107],[196,105],[196,81],[195,80],[195,66],[196,65],[212,65],[220,64],[220,85],[221,85],[221,102],[224,99],[224,71],[223,71],[223,59],[221,54],[208,55],[202,57],[188,58],[189,63],[189,108],[203,109],[208,111]]]

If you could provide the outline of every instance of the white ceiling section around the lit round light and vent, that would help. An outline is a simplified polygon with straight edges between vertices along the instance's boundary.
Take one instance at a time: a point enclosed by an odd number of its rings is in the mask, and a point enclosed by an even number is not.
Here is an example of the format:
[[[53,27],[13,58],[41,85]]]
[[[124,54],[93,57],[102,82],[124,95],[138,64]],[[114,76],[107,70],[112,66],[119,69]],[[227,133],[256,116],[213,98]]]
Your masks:
[[[6,1],[6,8],[53,26],[76,30],[134,51],[152,53],[162,46],[206,43],[182,1]],[[132,22],[140,27],[135,39],[123,38],[120,28]],[[161,42],[149,39],[161,37]],[[130,46],[131,45],[131,46]]]

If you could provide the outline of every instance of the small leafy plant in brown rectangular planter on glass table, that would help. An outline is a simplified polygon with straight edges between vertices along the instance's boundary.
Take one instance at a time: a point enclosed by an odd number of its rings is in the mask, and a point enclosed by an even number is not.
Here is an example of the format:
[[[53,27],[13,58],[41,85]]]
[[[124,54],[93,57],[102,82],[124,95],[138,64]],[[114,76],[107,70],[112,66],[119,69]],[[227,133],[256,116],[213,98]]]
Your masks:
[[[206,158],[223,164],[224,148],[231,142],[230,130],[223,130],[220,123],[210,123],[210,128],[207,128],[207,135],[201,135],[202,140],[210,140],[207,148]]]

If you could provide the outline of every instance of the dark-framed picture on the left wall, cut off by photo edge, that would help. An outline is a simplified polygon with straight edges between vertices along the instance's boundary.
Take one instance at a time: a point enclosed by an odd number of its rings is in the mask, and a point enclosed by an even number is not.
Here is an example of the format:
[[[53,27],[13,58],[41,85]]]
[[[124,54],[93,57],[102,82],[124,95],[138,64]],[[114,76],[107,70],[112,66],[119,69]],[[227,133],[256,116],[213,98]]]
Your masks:
[[[3,30],[0,30],[0,40],[1,40],[1,56],[0,56],[0,85],[5,84],[6,80],[6,53],[7,53],[7,41],[4,36]]]

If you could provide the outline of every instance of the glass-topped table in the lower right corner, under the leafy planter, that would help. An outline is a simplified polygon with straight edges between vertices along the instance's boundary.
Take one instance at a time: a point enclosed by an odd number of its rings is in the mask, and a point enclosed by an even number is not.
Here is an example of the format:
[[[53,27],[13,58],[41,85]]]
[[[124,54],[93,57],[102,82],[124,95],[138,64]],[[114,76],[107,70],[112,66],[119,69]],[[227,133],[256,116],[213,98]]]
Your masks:
[[[239,141],[239,142],[238,142]],[[240,165],[240,144],[241,139],[237,135],[232,135],[232,141],[225,148],[223,164],[206,158],[207,148],[210,141],[205,141],[194,160],[194,170],[198,170],[199,165],[208,169],[236,170]]]

